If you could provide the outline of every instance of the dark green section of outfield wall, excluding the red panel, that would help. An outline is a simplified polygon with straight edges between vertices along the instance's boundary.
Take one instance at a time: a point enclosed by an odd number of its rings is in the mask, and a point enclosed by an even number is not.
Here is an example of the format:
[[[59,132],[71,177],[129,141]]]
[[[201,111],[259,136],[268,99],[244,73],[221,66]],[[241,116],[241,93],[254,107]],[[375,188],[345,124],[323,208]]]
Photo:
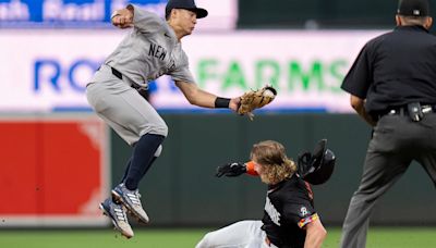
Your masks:
[[[340,224],[356,189],[371,129],[354,114],[258,115],[254,122],[234,115],[171,115],[161,158],[141,184],[154,225],[221,225],[259,219],[265,186],[256,177],[216,178],[217,165],[246,161],[253,142],[275,139],[295,158],[327,138],[337,157],[325,185],[314,186],[315,204],[327,225]],[[112,181],[118,182],[130,148],[112,133]],[[413,163],[376,206],[372,224],[436,223],[435,188]]]

